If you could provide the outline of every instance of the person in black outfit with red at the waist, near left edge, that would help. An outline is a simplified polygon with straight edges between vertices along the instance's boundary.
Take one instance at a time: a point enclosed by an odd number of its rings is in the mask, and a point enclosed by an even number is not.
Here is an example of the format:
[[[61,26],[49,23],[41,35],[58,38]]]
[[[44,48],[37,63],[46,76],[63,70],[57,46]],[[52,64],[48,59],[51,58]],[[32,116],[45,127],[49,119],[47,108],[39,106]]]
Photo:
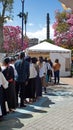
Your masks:
[[[10,66],[10,59],[6,57],[3,61],[4,68],[2,70],[6,80],[8,81],[8,88],[5,90],[6,101],[8,103],[9,112],[16,109],[16,93],[14,84],[14,69]]]

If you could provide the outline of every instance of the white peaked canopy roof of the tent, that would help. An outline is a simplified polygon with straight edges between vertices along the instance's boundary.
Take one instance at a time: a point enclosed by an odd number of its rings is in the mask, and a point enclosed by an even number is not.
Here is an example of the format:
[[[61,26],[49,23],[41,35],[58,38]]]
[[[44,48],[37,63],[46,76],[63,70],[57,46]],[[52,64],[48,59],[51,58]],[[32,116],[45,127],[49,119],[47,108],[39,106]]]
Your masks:
[[[37,45],[28,48],[28,51],[35,52],[71,52],[69,49],[65,49],[48,42],[42,42]]]

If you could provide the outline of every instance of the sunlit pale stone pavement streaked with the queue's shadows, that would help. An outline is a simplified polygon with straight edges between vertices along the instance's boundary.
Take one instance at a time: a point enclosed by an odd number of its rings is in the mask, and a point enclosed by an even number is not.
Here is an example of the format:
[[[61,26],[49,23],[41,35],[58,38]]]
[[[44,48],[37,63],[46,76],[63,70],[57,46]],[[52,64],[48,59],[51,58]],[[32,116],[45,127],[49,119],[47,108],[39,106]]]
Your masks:
[[[5,116],[0,130],[73,130],[73,85],[67,82],[50,84],[37,102]]]

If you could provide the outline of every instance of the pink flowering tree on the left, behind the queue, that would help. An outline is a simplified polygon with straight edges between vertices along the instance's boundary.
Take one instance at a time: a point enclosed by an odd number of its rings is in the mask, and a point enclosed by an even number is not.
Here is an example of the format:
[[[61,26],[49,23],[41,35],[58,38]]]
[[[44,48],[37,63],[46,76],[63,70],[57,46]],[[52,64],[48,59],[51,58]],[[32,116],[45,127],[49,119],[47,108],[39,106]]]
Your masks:
[[[25,50],[28,46],[25,38],[23,40],[22,47],[22,37],[21,37],[21,28],[19,26],[4,26],[3,35],[4,35],[4,44],[3,48],[7,53],[15,53],[20,50]]]

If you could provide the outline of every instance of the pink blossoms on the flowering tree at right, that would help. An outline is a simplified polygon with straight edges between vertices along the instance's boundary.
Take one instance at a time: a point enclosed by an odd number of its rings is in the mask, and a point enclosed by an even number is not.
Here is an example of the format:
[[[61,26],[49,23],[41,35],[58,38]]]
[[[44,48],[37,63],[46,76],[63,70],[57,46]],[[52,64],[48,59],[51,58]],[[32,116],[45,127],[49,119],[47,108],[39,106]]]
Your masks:
[[[63,18],[63,22],[66,22],[69,26],[67,31],[60,33],[57,31],[57,27],[60,23],[58,18],[60,19],[61,16],[59,15],[60,12],[56,11],[56,21],[53,24],[53,29],[54,29],[54,42],[56,45],[63,46],[65,45],[66,47],[73,46],[73,13],[72,12],[66,12],[65,19]],[[58,17],[59,16],[59,17]],[[62,21],[61,21],[62,22]],[[73,48],[73,47],[72,47]]]

